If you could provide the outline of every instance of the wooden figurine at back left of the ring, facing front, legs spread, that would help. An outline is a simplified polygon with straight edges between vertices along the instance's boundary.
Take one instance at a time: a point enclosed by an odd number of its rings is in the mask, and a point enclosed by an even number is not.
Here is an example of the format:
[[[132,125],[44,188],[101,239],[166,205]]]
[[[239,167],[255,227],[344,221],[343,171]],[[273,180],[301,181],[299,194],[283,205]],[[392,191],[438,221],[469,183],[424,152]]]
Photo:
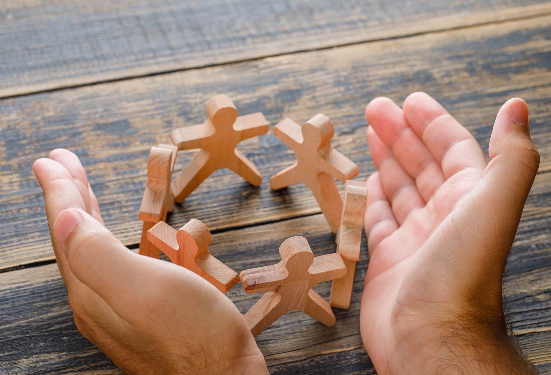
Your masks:
[[[210,174],[228,168],[252,185],[260,185],[262,178],[255,165],[237,148],[247,138],[269,131],[262,113],[237,117],[233,101],[226,95],[215,95],[206,106],[208,120],[201,125],[172,131],[172,143],[178,149],[201,148],[171,184],[172,195],[182,202]]]

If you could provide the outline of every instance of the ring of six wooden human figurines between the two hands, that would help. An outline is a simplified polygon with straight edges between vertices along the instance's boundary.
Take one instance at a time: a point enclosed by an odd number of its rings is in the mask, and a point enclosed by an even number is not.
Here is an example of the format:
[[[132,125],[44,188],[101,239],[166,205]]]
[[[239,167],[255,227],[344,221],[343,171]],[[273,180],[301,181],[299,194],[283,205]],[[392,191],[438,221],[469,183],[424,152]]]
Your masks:
[[[208,120],[203,124],[172,131],[174,146],[159,144],[151,148],[139,210],[143,221],[139,254],[159,258],[159,250],[163,251],[172,263],[195,272],[223,293],[240,280],[246,293],[264,293],[244,315],[253,336],[291,310],[300,310],[327,326],[334,325],[331,307],[350,307],[367,188],[364,183],[350,180],[358,175],[358,165],[331,146],[331,120],[318,114],[302,126],[284,119],[274,127],[274,134],[295,152],[296,162],[272,176],[270,186],[273,190],[299,183],[308,186],[331,231],[337,233],[337,252],[314,256],[306,238],[291,237],[279,248],[279,263],[237,275],[209,253],[210,231],[201,221],[192,219],[177,231],[165,223],[174,201],[185,200],[217,169],[228,168],[255,186],[262,181],[255,165],[236,146],[269,131],[264,115],[237,116],[233,101],[226,95],[211,98],[206,112]],[[177,151],[197,148],[196,156],[172,180]],[[334,179],[345,182],[344,202]],[[333,280],[329,303],[312,290],[317,283],[328,280]]]

